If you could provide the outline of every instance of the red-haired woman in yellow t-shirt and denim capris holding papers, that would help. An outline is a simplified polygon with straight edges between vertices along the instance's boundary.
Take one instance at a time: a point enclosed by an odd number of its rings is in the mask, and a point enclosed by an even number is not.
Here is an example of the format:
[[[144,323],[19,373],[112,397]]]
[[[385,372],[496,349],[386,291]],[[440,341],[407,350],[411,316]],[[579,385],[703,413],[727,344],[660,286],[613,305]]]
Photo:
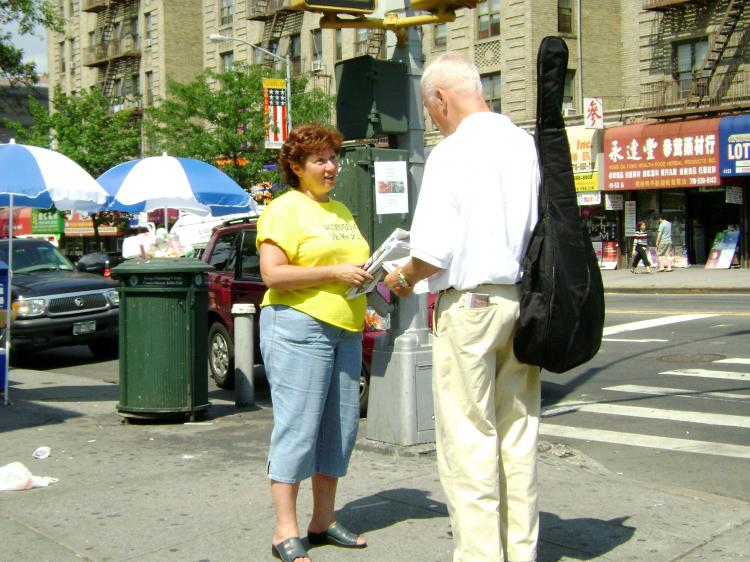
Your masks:
[[[279,155],[293,189],[258,220],[256,244],[268,287],[260,345],[274,417],[268,457],[276,510],[272,553],[290,562],[309,561],[297,524],[297,493],[306,478],[313,491],[309,542],[367,546],[334,515],[336,485],[346,474],[359,425],[367,307],[363,295],[348,300],[346,293],[372,279],[362,268],[367,242],[349,209],[329,197],[342,140],[333,129],[295,127]]]

